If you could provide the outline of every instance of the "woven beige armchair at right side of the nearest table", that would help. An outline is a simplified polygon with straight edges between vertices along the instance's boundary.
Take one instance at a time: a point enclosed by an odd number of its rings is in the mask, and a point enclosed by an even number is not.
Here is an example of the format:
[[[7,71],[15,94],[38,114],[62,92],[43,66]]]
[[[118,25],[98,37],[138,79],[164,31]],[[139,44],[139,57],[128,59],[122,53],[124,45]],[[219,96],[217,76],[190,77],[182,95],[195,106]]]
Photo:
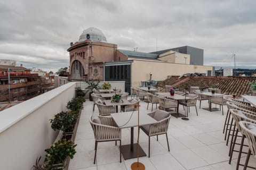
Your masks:
[[[168,151],[170,152],[169,141],[167,137],[167,130],[168,130],[171,115],[168,112],[161,111],[159,109],[149,113],[148,115],[153,117],[156,121],[158,121],[157,123],[140,126],[140,129],[148,135],[148,157],[150,157],[150,137],[153,137],[155,135],[157,137],[156,138],[157,141],[158,141],[158,135],[160,134],[166,135]]]

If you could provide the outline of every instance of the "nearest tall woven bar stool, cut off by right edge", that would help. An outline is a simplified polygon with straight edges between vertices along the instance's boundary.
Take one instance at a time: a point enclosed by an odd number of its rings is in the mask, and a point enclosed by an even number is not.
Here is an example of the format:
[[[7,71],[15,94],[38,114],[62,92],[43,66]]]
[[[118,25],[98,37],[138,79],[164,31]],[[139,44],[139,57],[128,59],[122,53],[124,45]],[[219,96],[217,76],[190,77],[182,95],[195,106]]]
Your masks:
[[[249,167],[248,162],[251,154],[254,158],[256,157],[256,124],[244,121],[239,122],[239,124],[242,129],[241,133],[245,135],[249,144],[249,150],[244,164],[244,169],[246,169],[247,167]]]

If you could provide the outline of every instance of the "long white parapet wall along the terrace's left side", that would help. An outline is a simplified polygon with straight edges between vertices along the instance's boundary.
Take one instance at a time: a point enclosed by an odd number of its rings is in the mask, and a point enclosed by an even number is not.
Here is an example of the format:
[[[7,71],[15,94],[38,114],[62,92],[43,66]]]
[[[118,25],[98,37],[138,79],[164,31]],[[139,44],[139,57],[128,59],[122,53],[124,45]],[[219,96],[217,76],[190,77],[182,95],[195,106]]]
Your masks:
[[[0,169],[30,169],[37,157],[44,159],[57,136],[49,119],[66,111],[75,87],[70,82],[0,112]]]

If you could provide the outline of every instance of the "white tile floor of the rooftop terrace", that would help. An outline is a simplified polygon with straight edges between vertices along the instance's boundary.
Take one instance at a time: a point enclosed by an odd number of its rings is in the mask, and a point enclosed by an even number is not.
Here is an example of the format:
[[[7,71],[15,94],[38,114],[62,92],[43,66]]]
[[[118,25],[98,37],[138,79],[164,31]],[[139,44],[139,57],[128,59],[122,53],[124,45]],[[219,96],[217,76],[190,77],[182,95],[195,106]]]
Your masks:
[[[140,113],[146,114],[147,103],[140,103]],[[231,165],[228,164],[228,150],[224,135],[222,134],[223,122],[226,118],[227,108],[224,108],[225,115],[221,111],[209,112],[202,109],[207,107],[207,101],[202,101],[202,107],[197,106],[198,116],[195,108],[190,108],[189,121],[181,118],[171,117],[168,138],[170,152],[167,150],[165,135],[151,138],[150,158],[141,157],[139,160],[146,169],[235,169],[237,153],[234,153]],[[115,142],[100,142],[97,151],[97,163],[93,164],[94,158],[94,135],[89,123],[92,114],[99,114],[97,106],[92,112],[93,103],[86,101],[79,122],[75,143],[77,144],[74,158],[70,160],[69,169],[75,170],[104,170],[104,169],[131,169],[131,164],[137,159],[122,158],[119,163],[119,148]],[[154,108],[155,109],[155,106]],[[149,112],[149,111],[148,111]],[[180,113],[184,113],[180,107]],[[134,129],[134,141],[137,141],[137,129]],[[140,131],[140,145],[148,153],[148,137]],[[118,142],[117,142],[118,143]],[[130,129],[122,130],[122,144],[130,143]],[[119,143],[118,143],[119,145]],[[245,154],[241,163],[245,162]],[[255,167],[256,159],[251,157],[249,165]],[[243,169],[240,166],[239,169]],[[248,168],[249,169],[249,168]]]

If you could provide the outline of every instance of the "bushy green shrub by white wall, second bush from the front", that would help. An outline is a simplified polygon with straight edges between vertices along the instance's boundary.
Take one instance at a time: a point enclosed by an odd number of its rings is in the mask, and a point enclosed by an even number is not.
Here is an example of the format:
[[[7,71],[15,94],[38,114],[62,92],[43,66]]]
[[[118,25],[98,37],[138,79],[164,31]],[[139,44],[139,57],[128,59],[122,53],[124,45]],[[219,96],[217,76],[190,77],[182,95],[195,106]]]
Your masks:
[[[76,124],[77,114],[74,112],[60,112],[54,115],[53,119],[50,119],[51,128],[56,130],[61,130],[63,132],[72,132]]]

